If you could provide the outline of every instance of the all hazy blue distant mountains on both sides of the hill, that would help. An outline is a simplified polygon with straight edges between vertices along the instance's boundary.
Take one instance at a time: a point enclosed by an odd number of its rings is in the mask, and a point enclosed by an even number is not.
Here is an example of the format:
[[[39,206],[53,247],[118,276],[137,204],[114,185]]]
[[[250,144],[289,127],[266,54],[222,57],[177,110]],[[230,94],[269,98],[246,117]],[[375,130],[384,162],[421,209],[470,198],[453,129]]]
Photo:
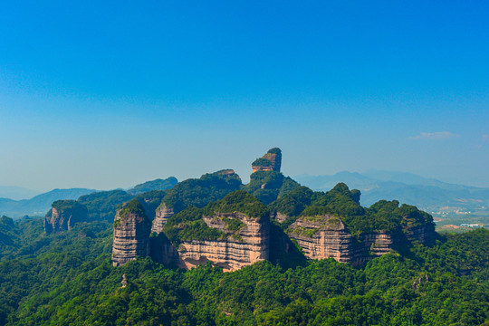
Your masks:
[[[489,188],[455,185],[407,172],[369,170],[360,174],[342,171],[332,176],[300,175],[293,179],[303,186],[320,191],[330,190],[339,182],[344,182],[350,189],[360,189],[362,206],[370,206],[380,199],[396,199],[401,204],[414,205],[429,213],[435,212],[440,215],[468,212],[489,214]],[[146,191],[163,190],[176,184],[177,178],[168,177],[139,184],[127,189],[126,192],[137,196]],[[31,199],[14,200],[14,196],[24,197],[32,190],[0,187],[0,194],[14,195],[12,198],[0,197],[0,216],[43,216],[55,200],[78,199],[95,191],[98,190],[54,189]]]

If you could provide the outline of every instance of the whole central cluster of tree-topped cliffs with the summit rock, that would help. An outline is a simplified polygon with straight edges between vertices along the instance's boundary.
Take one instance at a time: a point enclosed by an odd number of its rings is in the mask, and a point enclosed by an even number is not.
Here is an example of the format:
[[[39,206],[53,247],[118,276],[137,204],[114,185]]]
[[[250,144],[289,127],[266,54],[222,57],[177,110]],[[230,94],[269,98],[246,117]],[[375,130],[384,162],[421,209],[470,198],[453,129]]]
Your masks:
[[[343,183],[313,192],[283,177],[281,161],[281,150],[270,149],[254,161],[245,186],[234,170],[224,169],[139,195],[116,214],[113,264],[150,254],[162,264],[189,269],[210,262],[225,271],[265,259],[289,264],[306,257],[361,265],[395,249],[402,252],[413,241],[425,245],[436,235],[432,216],[416,206],[380,200],[365,208],[360,191]],[[52,216],[58,222],[46,217],[46,228],[67,218],[54,206]],[[156,236],[149,237],[151,232]]]

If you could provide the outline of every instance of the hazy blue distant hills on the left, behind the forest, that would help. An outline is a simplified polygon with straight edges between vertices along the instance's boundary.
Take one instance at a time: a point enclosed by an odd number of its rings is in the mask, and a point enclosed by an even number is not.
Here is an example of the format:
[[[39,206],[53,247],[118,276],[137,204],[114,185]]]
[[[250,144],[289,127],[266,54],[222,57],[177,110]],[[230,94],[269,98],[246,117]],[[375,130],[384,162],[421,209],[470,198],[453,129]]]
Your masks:
[[[177,184],[177,178],[168,177],[167,179],[156,179],[153,181],[148,181],[143,184],[137,185],[135,187],[129,188],[127,190],[129,195],[139,195],[143,192],[150,190],[163,190],[170,187],[173,187]],[[19,189],[19,187],[0,187],[0,190],[4,189],[4,194],[7,193],[7,190],[11,188],[15,191]],[[29,191],[28,189],[24,189]],[[86,189],[86,188],[71,188],[71,189],[53,189],[41,195],[37,195],[32,197],[31,199],[21,199],[14,200],[12,198],[2,198],[0,197],[0,216],[9,216],[9,217],[22,217],[22,216],[44,216],[47,211],[51,208],[51,204],[53,201],[59,199],[78,199],[83,195],[88,195],[93,192],[97,192],[100,190],[95,189]],[[27,194],[27,192],[24,192]]]

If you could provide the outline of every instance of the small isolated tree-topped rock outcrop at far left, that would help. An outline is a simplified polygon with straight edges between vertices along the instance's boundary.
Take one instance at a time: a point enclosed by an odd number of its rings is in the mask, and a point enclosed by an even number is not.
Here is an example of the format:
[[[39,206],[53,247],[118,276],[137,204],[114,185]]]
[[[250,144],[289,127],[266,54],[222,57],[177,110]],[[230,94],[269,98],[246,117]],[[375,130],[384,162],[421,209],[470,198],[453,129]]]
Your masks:
[[[71,230],[76,223],[87,220],[87,207],[75,200],[56,200],[44,216],[46,234]]]

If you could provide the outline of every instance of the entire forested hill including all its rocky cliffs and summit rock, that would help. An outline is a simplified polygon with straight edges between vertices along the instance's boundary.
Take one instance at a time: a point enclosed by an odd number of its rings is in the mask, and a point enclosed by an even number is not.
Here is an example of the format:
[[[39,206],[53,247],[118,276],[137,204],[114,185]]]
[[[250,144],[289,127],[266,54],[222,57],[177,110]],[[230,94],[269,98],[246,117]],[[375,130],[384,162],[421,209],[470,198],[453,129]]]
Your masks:
[[[247,185],[225,169],[1,217],[0,325],[489,323],[489,231],[437,235],[416,206],[312,191],[281,158]]]

